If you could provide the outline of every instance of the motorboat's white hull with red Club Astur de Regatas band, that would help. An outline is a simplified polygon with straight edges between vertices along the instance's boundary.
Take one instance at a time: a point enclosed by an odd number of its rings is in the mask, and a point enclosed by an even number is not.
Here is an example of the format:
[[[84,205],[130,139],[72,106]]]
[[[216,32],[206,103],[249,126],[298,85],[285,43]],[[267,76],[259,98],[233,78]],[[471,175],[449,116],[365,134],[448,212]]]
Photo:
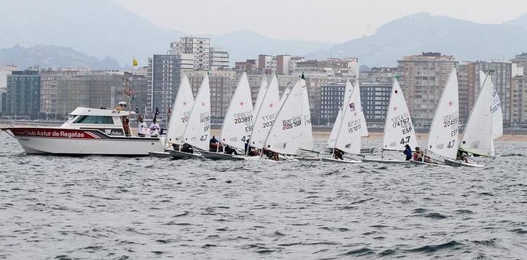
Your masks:
[[[8,130],[27,154],[148,156],[162,152],[159,138],[110,136],[95,129],[11,127]]]

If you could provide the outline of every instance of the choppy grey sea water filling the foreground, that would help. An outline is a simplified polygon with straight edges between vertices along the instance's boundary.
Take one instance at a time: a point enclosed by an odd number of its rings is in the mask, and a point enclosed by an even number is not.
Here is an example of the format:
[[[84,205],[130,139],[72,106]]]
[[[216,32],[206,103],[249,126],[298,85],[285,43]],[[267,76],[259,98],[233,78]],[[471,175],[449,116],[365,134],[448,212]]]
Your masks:
[[[525,259],[526,147],[437,168],[25,155],[2,134],[0,258]]]

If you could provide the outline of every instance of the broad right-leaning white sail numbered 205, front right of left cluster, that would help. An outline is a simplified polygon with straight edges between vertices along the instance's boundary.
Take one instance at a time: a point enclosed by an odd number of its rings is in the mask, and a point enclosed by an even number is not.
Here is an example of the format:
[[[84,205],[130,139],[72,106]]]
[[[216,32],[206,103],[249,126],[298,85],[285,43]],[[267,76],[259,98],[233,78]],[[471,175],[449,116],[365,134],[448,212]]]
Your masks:
[[[302,145],[304,88],[305,80],[299,79],[290,94],[285,97],[265,141],[265,147],[269,150],[286,155],[296,155]]]

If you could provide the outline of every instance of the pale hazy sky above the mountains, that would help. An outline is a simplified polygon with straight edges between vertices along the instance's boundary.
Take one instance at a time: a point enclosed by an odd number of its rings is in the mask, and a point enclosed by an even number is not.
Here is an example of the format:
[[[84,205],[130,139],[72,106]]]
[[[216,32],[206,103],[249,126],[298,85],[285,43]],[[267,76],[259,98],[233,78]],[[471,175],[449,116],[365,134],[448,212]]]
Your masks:
[[[188,34],[249,29],[273,38],[344,42],[383,23],[429,12],[476,23],[503,23],[527,0],[116,0],[151,23]]]

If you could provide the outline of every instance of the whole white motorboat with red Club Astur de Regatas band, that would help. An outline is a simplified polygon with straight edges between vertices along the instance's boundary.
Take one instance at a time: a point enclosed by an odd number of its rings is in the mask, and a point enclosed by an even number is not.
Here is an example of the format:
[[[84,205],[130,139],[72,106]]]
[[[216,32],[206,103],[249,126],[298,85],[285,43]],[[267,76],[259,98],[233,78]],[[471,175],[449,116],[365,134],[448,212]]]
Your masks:
[[[146,156],[162,152],[158,137],[133,136],[119,109],[77,107],[60,127],[6,127],[27,154]]]

